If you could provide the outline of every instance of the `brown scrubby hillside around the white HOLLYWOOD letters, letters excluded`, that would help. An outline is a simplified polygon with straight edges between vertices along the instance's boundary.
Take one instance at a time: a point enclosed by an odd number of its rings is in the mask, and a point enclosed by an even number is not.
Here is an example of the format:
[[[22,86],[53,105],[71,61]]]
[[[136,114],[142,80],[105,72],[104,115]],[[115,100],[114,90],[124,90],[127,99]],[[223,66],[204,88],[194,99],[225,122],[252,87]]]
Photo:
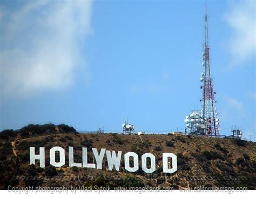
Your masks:
[[[141,137],[141,139],[140,139]],[[11,186],[110,186],[122,187],[248,187],[256,188],[256,144],[227,138],[191,135],[123,135],[78,133],[67,125],[29,125],[17,131],[0,133],[0,189]],[[65,149],[65,165],[50,166],[49,149]],[[82,162],[82,147],[110,151],[136,152],[140,156],[156,156],[156,172],[146,174],[140,167],[135,173],[124,169],[122,155],[120,172],[109,171],[104,156],[103,169],[68,167],[68,147],[74,148],[76,162]],[[45,147],[45,168],[29,165],[29,147]],[[177,155],[178,171],[163,173],[162,153]],[[139,160],[139,166],[140,165]]]

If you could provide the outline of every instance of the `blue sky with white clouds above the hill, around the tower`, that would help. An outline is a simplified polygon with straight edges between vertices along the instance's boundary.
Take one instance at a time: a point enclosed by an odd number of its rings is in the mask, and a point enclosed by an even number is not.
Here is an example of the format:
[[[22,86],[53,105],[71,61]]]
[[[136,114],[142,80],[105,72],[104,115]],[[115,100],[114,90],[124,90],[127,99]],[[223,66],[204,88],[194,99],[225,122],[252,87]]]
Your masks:
[[[254,1],[1,1],[0,130],[184,130],[200,108],[205,3],[220,134],[255,141]]]

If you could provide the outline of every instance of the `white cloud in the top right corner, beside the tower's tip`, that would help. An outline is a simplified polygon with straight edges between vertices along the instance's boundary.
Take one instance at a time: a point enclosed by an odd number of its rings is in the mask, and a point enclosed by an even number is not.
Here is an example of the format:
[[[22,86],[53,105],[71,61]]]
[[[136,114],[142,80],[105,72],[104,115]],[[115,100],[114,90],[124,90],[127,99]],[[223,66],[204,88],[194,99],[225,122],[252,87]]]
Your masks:
[[[234,31],[227,45],[233,58],[231,66],[255,58],[255,13],[253,0],[232,2],[225,13],[225,21]]]

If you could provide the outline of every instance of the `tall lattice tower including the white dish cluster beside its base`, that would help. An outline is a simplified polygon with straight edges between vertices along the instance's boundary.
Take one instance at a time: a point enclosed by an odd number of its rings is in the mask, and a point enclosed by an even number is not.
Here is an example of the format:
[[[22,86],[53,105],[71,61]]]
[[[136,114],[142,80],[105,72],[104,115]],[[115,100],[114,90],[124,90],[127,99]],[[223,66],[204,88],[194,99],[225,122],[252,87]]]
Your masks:
[[[191,114],[186,115],[184,120],[186,128],[190,130],[194,135],[207,135],[207,136],[219,136],[219,118],[215,107],[216,101],[214,100],[213,83],[211,78],[210,67],[210,48],[208,45],[208,18],[207,7],[205,7],[205,42],[203,51],[203,67],[204,72],[201,73],[200,81],[203,85],[203,97],[201,101],[201,112],[193,110]]]

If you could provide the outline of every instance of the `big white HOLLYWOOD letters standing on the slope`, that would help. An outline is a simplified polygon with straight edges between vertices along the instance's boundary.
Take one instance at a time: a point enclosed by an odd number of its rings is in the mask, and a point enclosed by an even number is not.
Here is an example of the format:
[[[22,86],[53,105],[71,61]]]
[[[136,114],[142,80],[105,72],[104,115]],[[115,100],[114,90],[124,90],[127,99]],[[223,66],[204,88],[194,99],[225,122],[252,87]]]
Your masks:
[[[56,162],[56,152],[59,153],[59,161]],[[97,168],[102,169],[102,161],[106,154],[107,165],[111,171],[113,167],[119,171],[120,161],[122,158],[122,151],[106,151],[105,148],[100,149],[98,153],[97,148],[92,148],[93,155],[95,157],[95,163],[88,163],[87,161],[87,148],[82,148],[82,163],[74,162],[73,147],[69,147],[69,166],[77,166],[83,168]],[[133,158],[133,167],[130,166],[130,157]],[[150,168],[147,168],[147,158],[150,159]],[[39,166],[45,167],[45,149],[39,148],[39,154],[35,154],[35,147],[30,147],[30,164],[35,165],[35,161],[39,160]],[[156,157],[151,153],[145,153],[142,155],[142,170],[145,173],[153,173],[156,170]],[[139,156],[134,152],[127,152],[124,154],[125,169],[129,172],[136,172],[139,169]],[[65,149],[59,146],[52,147],[50,149],[50,164],[55,167],[62,167],[65,165]],[[172,168],[169,167],[172,165]],[[173,153],[163,153],[163,172],[174,173],[177,171],[177,156]]]

